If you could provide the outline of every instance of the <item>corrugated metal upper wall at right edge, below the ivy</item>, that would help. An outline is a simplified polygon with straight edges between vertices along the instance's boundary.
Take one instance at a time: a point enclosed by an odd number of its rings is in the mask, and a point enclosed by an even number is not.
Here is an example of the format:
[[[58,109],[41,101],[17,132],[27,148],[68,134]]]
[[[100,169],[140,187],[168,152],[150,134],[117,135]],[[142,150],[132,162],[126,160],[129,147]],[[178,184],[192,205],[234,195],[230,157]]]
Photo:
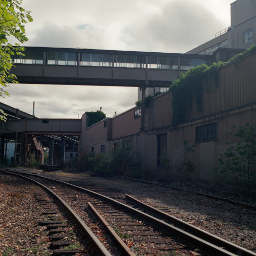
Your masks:
[[[256,102],[256,54],[231,63],[219,71],[219,87],[213,81],[204,82],[203,110],[193,105],[188,119],[240,108]]]

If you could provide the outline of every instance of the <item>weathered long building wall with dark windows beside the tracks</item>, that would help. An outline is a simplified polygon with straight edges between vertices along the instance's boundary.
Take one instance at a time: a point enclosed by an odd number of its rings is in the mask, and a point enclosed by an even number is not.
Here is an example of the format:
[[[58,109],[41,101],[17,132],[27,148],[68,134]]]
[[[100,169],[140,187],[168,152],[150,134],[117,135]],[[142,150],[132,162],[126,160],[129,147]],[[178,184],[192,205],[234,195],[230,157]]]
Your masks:
[[[239,62],[230,62],[219,69],[219,86],[213,81],[204,82],[202,111],[194,103],[186,121],[172,125],[172,93],[165,92],[153,98],[146,109],[142,129],[141,107],[114,117],[106,118],[86,127],[86,114],[82,116],[81,150],[95,153],[108,152],[116,143],[132,143],[142,163],[161,171],[159,161],[165,154],[175,165],[182,156],[183,142],[196,145],[189,160],[196,166],[195,176],[214,180],[212,172],[218,164],[219,154],[227,148],[226,142],[237,143],[230,136],[233,125],[244,123],[256,126],[256,53]]]

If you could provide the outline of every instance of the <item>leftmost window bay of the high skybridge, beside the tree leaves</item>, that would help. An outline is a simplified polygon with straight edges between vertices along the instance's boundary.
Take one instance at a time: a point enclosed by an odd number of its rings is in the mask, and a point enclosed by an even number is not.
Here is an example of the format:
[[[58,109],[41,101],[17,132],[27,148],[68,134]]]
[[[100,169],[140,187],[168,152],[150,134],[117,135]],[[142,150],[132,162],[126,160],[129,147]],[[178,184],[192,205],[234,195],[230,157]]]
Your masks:
[[[40,51],[24,51],[22,54],[15,54],[13,62],[19,64],[42,64],[44,53]]]

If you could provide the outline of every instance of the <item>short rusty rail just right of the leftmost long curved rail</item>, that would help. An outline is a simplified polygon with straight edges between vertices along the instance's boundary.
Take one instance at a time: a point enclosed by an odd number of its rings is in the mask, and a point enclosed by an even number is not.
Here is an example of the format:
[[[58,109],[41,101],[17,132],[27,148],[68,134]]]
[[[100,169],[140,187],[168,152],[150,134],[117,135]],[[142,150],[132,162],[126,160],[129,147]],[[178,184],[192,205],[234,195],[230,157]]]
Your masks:
[[[121,238],[118,237],[117,233],[113,230],[113,228],[110,226],[108,222],[99,214],[99,212],[93,207],[93,205],[90,202],[88,203],[88,210],[91,212],[91,214],[98,219],[108,230],[111,237],[116,241],[118,247],[121,249],[123,255],[128,256],[135,256],[135,254],[130,250],[130,248],[122,241]]]

